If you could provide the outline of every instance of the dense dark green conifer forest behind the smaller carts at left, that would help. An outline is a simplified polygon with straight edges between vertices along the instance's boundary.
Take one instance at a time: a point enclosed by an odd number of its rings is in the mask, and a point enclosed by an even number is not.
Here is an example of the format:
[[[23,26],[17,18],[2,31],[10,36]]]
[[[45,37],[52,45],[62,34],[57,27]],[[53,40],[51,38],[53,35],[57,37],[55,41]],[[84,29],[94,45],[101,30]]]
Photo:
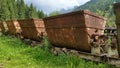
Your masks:
[[[46,15],[24,0],[0,0],[0,21],[11,19],[42,18]]]

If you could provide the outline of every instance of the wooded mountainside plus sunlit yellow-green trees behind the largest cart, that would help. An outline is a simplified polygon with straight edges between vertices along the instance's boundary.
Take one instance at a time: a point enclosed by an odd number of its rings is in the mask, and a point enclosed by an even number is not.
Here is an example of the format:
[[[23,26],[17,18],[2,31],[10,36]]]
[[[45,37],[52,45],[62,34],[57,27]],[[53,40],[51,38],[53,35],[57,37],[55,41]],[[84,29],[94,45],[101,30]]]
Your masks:
[[[78,6],[74,11],[89,9],[101,16],[107,18],[106,26],[115,26],[115,16],[113,13],[113,3],[120,2],[119,0],[90,0],[82,6]]]

